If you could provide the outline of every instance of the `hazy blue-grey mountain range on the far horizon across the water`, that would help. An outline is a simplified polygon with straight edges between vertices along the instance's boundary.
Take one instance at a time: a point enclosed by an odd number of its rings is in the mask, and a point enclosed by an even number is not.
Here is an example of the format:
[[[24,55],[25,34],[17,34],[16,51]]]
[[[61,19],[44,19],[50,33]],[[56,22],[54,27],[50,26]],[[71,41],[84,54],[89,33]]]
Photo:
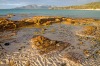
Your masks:
[[[51,6],[48,5],[27,5],[22,7],[16,7],[14,9],[49,9]]]

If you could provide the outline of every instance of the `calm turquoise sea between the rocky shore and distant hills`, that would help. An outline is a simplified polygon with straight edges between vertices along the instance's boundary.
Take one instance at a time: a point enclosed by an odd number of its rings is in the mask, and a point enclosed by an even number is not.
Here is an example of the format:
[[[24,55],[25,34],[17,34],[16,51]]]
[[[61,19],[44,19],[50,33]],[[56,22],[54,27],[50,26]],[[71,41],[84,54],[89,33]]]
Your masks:
[[[100,19],[100,10],[0,9],[0,15],[6,14],[28,14],[33,16],[43,15]]]

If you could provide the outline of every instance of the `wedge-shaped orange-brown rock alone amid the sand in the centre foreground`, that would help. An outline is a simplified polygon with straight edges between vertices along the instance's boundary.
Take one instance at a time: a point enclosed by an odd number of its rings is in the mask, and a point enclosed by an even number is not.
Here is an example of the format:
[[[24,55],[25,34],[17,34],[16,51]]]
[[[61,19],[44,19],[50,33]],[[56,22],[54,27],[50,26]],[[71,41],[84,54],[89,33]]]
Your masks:
[[[37,49],[40,54],[52,53],[54,51],[62,51],[70,46],[70,44],[67,42],[50,40],[43,36],[32,38],[31,42],[32,48]]]

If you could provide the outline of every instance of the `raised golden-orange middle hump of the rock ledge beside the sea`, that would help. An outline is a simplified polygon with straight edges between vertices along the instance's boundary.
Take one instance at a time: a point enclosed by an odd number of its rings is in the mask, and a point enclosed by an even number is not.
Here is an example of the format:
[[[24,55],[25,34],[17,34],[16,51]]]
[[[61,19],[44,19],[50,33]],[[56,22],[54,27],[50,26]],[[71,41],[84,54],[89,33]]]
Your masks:
[[[35,24],[35,25],[50,25],[52,23],[61,22],[62,20],[63,20],[62,17],[34,16],[32,18],[22,19],[21,21],[28,24]]]

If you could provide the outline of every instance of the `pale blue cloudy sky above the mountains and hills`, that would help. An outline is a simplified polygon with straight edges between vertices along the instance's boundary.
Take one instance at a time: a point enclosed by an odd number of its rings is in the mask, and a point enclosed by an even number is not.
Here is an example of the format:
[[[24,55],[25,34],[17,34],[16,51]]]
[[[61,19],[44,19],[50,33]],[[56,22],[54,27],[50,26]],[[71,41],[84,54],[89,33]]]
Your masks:
[[[81,5],[100,0],[0,0],[0,9],[10,9],[31,4],[51,5],[51,6],[70,6]]]

